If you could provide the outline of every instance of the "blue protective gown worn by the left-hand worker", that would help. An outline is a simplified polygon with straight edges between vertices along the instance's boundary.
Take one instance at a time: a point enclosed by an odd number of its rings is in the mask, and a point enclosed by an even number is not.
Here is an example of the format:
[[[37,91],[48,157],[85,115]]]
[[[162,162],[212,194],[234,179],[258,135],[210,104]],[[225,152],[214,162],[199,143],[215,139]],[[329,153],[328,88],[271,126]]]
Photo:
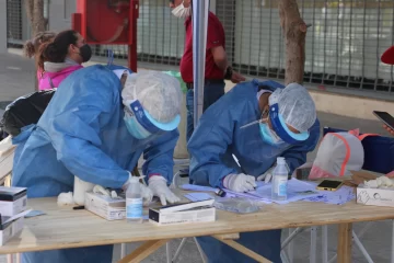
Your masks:
[[[30,198],[72,191],[74,175],[120,188],[142,153],[143,174],[159,173],[171,182],[178,132],[153,140],[131,137],[120,92],[119,79],[105,66],[80,69],[63,80],[38,124],[14,138],[12,184],[27,187]],[[108,263],[112,252],[113,245],[54,250],[24,253],[22,261]]]

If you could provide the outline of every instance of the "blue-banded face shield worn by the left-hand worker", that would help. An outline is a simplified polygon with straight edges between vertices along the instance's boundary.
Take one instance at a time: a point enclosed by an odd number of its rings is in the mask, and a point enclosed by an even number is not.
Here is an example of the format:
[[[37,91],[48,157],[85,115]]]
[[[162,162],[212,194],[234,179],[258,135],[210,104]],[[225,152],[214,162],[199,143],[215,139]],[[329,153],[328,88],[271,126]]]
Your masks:
[[[181,116],[176,117],[169,123],[159,123],[147,111],[143,110],[141,103],[138,100],[131,101],[126,111],[135,116],[137,122],[149,133],[160,134],[163,132],[171,132],[177,128],[181,123]]]

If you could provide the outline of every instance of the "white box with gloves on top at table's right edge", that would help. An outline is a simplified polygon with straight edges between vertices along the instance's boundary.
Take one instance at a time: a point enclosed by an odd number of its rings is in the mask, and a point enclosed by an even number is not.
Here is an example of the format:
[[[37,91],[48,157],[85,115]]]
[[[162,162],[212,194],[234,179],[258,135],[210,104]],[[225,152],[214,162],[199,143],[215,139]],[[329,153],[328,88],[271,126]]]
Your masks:
[[[394,207],[394,188],[364,188],[361,184],[357,187],[357,203]]]

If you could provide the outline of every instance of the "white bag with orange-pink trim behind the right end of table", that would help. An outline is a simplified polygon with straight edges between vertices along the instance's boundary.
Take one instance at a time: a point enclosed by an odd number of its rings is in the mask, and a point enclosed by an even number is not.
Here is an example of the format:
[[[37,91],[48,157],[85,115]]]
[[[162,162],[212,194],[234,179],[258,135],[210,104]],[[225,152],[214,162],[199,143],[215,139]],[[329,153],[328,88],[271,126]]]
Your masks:
[[[310,179],[337,178],[360,171],[364,150],[358,130],[329,133],[324,136],[313,162]]]

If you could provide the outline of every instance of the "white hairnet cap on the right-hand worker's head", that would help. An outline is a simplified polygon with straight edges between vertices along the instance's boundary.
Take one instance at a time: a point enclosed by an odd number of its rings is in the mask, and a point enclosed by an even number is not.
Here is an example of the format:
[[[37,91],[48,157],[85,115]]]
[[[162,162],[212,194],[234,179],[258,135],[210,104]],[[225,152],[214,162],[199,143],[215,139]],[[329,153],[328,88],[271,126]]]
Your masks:
[[[309,130],[316,121],[316,106],[312,96],[298,83],[290,83],[285,89],[276,89],[269,96],[269,105],[276,103],[286,124],[301,133]]]

